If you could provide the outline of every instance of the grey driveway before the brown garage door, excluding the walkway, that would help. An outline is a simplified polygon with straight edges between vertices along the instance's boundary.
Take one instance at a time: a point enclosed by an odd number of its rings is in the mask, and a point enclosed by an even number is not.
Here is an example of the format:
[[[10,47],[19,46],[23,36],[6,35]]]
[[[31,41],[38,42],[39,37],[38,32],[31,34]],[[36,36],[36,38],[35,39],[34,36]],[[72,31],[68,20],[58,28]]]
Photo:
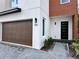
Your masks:
[[[55,59],[48,52],[32,48],[0,44],[0,59]]]

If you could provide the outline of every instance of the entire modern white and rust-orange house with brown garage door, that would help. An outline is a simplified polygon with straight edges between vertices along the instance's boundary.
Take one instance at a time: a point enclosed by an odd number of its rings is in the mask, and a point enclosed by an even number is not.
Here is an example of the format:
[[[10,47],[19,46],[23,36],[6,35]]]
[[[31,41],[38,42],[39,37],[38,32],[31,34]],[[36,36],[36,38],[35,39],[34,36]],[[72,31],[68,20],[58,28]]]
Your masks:
[[[78,37],[77,0],[1,0],[0,39],[40,49],[46,38]]]

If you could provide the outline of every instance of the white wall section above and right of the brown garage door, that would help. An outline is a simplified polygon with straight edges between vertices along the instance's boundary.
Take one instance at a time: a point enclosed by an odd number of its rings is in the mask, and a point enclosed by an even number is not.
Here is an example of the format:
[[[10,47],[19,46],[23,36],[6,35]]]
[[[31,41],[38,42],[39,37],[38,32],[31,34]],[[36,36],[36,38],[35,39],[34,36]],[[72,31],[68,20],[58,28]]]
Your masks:
[[[28,19],[33,19],[33,29],[32,29],[32,40],[33,48],[39,49],[39,44],[40,44],[40,8],[37,9],[32,9],[32,10],[27,10],[27,11],[22,11],[21,13],[15,13],[15,14],[10,14],[10,15],[5,15],[5,16],[0,16],[0,22],[9,22],[9,21],[19,21],[19,20],[28,20]],[[35,18],[38,19],[38,25],[35,26]],[[1,26],[0,26],[1,29]],[[2,33],[0,33],[2,35]],[[2,40],[2,39],[1,39]]]

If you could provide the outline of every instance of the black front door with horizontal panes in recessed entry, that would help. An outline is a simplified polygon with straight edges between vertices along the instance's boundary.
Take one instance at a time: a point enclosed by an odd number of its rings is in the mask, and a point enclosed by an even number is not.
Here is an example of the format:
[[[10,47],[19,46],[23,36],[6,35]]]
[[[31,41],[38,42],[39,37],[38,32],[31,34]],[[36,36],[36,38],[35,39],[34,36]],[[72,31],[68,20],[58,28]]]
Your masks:
[[[68,21],[61,22],[61,39],[68,39]]]

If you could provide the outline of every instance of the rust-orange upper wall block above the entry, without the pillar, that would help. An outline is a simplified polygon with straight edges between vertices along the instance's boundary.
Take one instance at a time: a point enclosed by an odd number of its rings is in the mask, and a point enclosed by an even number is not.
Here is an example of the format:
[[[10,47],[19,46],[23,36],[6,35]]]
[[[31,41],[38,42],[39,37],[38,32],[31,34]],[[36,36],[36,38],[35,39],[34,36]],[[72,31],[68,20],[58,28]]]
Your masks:
[[[74,14],[77,14],[77,0],[70,0],[67,4],[60,4],[60,0],[50,0],[50,16]]]

